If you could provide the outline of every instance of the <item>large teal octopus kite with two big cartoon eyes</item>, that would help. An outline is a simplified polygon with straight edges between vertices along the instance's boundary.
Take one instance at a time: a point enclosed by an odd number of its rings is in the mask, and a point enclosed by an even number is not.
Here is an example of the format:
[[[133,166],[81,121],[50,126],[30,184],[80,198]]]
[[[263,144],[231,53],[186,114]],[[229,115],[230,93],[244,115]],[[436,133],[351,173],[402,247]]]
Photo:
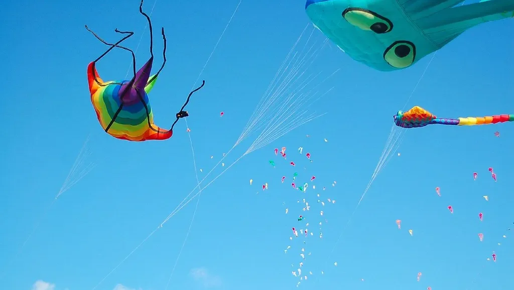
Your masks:
[[[470,0],[468,0],[470,1]],[[310,20],[351,58],[405,69],[480,23],[514,16],[514,0],[307,0]]]

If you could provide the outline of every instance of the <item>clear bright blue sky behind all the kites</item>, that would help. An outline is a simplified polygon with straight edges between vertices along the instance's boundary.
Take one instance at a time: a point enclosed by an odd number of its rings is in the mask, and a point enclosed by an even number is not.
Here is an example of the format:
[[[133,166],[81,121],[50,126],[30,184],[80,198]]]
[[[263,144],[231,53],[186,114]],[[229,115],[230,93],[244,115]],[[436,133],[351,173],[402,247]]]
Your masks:
[[[56,0],[3,7],[2,79],[9,100],[0,109],[5,124],[0,177],[2,288],[89,290],[99,282],[99,290],[166,288],[196,199],[108,274],[197,184],[191,144],[200,179],[232,147],[308,24],[303,3],[243,1],[201,75],[205,88],[188,106],[192,142],[183,120],[171,140],[124,142],[101,130],[90,104],[86,66],[105,46],[84,24],[106,40],[118,38],[115,28],[133,30],[136,36],[126,45],[135,48],[145,26],[138,4],[91,0],[69,5]],[[144,9],[150,11],[153,4],[147,0]],[[173,122],[237,4],[238,0],[156,3],[153,25],[156,31],[164,26],[168,37],[168,63],[150,95],[158,125]],[[439,50],[407,107],[419,105],[442,117],[513,113],[514,43],[508,37],[513,29],[511,20],[487,23]],[[145,33],[139,63],[149,56]],[[313,33],[311,41],[323,40],[319,31]],[[160,55],[158,33],[155,42]],[[295,288],[298,279],[291,271],[301,262],[303,246],[296,238],[290,242],[289,236],[291,227],[303,228],[298,226],[299,214],[317,224],[316,192],[337,202],[323,209],[328,221],[323,239],[312,227],[314,242],[305,246],[311,255],[303,271],[310,269],[313,275],[300,287],[513,288],[508,276],[514,269],[509,236],[514,232],[507,231],[514,227],[509,191],[514,185],[509,180],[514,174],[509,166],[514,161],[512,124],[409,130],[398,149],[401,155],[392,155],[346,227],[379,160],[392,115],[402,109],[430,58],[406,70],[382,73],[326,45],[309,72],[331,74],[340,69],[320,85],[321,91],[334,89],[305,110],[327,114],[245,156],[207,187],[168,288]],[[99,63],[99,73],[104,79],[120,79],[130,63],[127,53],[115,50]],[[500,138],[494,137],[495,131],[500,131]],[[91,155],[85,164],[96,166],[52,203],[88,135]],[[223,161],[225,167],[255,138],[251,135],[238,145]],[[273,153],[282,146],[287,147],[287,161]],[[302,155],[296,150],[300,146]],[[305,152],[311,153],[313,162]],[[270,159],[276,161],[275,167]],[[297,165],[292,168],[289,161]],[[498,182],[491,179],[488,167],[494,168]],[[206,181],[223,169],[214,169]],[[317,187],[304,194],[314,200],[307,213],[301,209],[302,194],[289,185],[294,172],[299,173],[299,182]],[[478,173],[476,181],[473,172]],[[313,175],[316,180],[310,182]],[[287,176],[284,184],[282,176]],[[263,192],[260,186],[266,182],[268,190]],[[479,212],[484,214],[482,223]],[[396,219],[402,220],[401,230]],[[482,243],[478,233],[484,234]],[[286,254],[288,245],[292,249]],[[492,251],[497,253],[496,263],[486,260]],[[423,273],[420,282],[418,272]]]

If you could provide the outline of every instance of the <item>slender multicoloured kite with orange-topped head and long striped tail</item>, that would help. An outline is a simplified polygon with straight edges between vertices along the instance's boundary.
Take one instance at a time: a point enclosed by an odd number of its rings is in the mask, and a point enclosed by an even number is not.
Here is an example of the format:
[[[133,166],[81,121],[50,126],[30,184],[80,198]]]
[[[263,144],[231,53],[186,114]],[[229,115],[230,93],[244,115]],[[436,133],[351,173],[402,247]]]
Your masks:
[[[394,123],[403,128],[419,128],[431,124],[472,126],[496,124],[514,121],[514,115],[493,115],[485,117],[459,117],[456,119],[438,118],[429,111],[415,106],[407,112],[398,111],[394,117]]]

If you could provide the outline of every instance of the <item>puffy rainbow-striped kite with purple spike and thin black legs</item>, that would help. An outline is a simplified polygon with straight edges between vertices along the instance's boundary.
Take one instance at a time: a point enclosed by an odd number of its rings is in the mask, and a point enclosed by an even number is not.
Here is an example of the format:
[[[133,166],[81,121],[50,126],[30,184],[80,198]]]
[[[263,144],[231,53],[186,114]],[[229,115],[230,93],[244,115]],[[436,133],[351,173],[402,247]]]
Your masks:
[[[150,21],[150,17],[143,12],[142,5],[143,1],[141,1],[139,6],[139,12],[146,17],[149,23],[151,57],[137,72],[134,52],[129,48],[119,45],[125,39],[134,35],[134,32],[119,31],[116,29],[116,32],[125,35],[125,37],[117,43],[111,44],[98,37],[96,33],[91,31],[86,25],[86,29],[93,33],[98,40],[111,46],[105,53],[89,63],[87,66],[89,92],[91,94],[91,103],[93,104],[97,114],[98,121],[105,132],[109,135],[128,141],[166,140],[172,137],[173,127],[177,123],[178,119],[189,115],[188,112],[183,109],[189,103],[191,95],[201,89],[204,86],[205,81],[203,81],[200,87],[189,93],[186,103],[176,114],[176,120],[169,130],[162,129],[154,124],[154,115],[152,113],[152,107],[150,106],[148,93],[152,90],[159,73],[162,71],[164,64],[166,63],[166,36],[164,35],[164,28],[162,28],[162,38],[164,40],[164,50],[162,55],[164,60],[159,71],[150,77],[154,60],[152,51],[152,23]],[[96,63],[115,47],[132,53],[134,76],[131,80],[104,82],[97,72]]]

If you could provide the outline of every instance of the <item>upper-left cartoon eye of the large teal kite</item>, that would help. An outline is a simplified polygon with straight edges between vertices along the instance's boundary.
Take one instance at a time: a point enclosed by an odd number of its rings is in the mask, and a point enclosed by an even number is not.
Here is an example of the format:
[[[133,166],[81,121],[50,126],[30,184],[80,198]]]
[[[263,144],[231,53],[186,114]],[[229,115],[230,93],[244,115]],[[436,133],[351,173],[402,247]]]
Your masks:
[[[346,8],[343,18],[362,30],[371,30],[377,34],[387,33],[393,29],[393,23],[384,16],[362,8]]]

